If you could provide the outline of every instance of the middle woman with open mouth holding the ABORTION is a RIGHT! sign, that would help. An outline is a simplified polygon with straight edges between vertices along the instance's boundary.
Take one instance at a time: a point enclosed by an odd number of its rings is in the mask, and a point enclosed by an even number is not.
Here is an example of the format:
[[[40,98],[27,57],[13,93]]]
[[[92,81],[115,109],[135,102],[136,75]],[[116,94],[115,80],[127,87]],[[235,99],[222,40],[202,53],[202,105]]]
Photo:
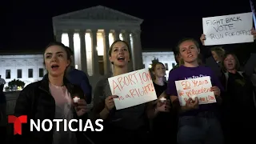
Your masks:
[[[113,74],[107,78],[102,78],[94,92],[94,109],[92,118],[104,120],[103,133],[95,137],[98,143],[138,143],[146,142],[147,138],[147,112],[154,112],[154,109],[147,109],[146,103],[116,110],[108,78],[126,74],[130,72],[130,48],[129,45],[121,40],[115,41],[109,50],[109,59],[113,64]],[[99,137],[102,137],[99,139]]]

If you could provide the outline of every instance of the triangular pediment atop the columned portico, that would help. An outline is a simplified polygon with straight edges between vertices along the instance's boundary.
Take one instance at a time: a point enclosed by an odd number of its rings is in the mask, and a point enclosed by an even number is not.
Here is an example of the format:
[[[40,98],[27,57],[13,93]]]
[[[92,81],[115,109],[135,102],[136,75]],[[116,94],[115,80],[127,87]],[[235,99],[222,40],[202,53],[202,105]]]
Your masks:
[[[54,20],[84,20],[84,21],[128,21],[142,23],[142,19],[118,10],[112,10],[105,6],[94,6],[84,10],[74,11],[68,14],[58,15]]]

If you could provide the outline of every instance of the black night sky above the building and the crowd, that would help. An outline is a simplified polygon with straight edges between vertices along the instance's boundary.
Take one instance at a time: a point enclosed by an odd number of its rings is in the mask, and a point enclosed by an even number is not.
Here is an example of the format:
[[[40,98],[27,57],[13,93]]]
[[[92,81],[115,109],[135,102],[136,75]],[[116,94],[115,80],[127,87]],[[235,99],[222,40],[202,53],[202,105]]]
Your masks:
[[[144,19],[143,50],[171,50],[181,38],[199,39],[204,17],[250,12],[249,0],[9,1],[0,7],[0,50],[42,50],[54,39],[53,16],[98,5]]]

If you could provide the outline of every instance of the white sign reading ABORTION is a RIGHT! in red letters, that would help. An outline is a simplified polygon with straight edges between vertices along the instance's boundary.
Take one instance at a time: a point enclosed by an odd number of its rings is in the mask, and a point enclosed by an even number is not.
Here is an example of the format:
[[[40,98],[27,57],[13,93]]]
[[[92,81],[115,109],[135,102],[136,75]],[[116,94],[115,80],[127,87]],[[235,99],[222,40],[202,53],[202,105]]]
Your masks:
[[[121,74],[108,78],[108,81],[112,95],[118,95],[118,98],[114,98],[117,110],[157,99],[149,70],[142,69]]]

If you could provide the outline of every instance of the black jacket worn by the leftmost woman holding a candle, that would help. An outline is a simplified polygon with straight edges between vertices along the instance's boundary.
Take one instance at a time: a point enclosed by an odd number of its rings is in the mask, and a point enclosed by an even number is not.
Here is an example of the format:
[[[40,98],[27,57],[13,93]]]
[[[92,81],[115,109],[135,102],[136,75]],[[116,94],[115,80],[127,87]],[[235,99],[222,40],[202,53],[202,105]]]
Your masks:
[[[70,92],[71,97],[78,96],[84,98],[82,89],[79,86],[70,84],[64,79],[64,84],[67,90]],[[12,141],[14,143],[26,143],[26,144],[51,144],[53,142],[53,130],[49,132],[41,131],[30,131],[30,119],[54,119],[55,115],[55,101],[49,90],[48,76],[43,78],[42,81],[31,83],[21,91],[16,102],[14,109],[14,115],[16,117],[20,115],[27,115],[27,123],[22,124],[22,135],[14,135]],[[78,118],[74,110],[74,118],[82,119],[86,121],[87,114],[84,114],[81,118]],[[83,122],[84,124],[86,122]],[[48,127],[48,126],[47,126]],[[87,143],[87,139],[84,136],[84,132],[75,132],[78,139],[78,144]]]

